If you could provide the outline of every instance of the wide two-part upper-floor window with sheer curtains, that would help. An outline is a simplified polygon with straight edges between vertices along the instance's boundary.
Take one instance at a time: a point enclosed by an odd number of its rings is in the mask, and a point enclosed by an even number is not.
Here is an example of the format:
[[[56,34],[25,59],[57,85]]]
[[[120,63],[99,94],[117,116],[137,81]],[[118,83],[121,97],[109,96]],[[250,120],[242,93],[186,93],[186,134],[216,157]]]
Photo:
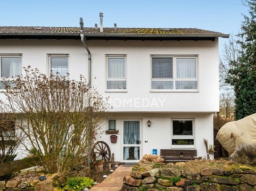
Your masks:
[[[196,56],[151,56],[152,90],[198,90]]]

